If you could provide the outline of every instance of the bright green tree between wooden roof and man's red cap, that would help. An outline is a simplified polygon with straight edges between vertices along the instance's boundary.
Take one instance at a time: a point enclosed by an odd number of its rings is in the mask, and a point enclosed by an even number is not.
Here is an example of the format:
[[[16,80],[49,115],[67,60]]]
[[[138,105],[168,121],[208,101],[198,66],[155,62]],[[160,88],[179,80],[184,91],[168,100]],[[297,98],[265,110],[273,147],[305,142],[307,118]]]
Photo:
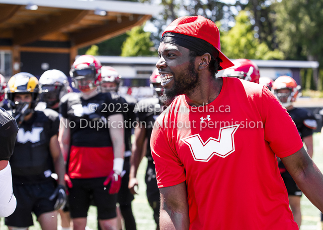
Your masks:
[[[150,32],[145,32],[143,26],[136,26],[127,32],[128,38],[121,47],[121,56],[157,56]]]

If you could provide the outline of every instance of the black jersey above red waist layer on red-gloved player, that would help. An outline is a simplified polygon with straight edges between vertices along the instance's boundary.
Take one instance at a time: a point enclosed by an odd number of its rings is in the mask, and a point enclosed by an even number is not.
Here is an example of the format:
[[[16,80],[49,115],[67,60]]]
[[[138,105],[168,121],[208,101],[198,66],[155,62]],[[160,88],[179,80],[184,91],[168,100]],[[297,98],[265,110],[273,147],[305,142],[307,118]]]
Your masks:
[[[87,100],[80,93],[68,93],[61,99],[60,114],[70,122],[61,125],[71,128],[73,146],[109,147],[112,142],[107,119],[110,115],[123,115],[124,106],[124,101],[115,93],[99,93]]]

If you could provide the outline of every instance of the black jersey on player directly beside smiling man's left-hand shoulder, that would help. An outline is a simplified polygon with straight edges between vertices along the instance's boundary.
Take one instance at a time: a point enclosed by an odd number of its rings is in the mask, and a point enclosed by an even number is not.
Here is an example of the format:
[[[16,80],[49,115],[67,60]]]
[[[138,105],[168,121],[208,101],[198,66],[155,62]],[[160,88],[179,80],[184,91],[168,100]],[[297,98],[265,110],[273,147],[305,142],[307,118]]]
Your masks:
[[[152,135],[156,118],[161,114],[161,105],[158,98],[143,99],[138,102],[135,112],[142,127],[146,127],[147,152],[146,157],[149,161],[154,161],[150,149],[150,137]]]

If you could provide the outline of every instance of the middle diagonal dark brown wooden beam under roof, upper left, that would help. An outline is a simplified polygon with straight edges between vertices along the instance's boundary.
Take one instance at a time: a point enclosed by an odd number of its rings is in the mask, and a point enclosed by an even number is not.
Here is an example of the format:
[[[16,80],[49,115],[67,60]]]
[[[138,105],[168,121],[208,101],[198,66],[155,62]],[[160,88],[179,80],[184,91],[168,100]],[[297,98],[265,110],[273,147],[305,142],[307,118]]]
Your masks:
[[[79,22],[88,10],[62,11],[60,16],[51,15],[48,20],[37,20],[34,25],[24,26],[13,31],[13,44],[23,45],[39,40],[42,36],[54,33],[70,24]]]

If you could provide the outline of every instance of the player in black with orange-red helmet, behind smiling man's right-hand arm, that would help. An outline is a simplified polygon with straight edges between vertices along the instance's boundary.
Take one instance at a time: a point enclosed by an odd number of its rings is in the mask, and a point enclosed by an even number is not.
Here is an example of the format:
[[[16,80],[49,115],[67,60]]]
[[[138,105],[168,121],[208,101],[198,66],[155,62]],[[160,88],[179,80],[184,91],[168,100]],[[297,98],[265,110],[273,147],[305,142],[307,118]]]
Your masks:
[[[293,107],[293,102],[295,102],[300,86],[297,85],[296,81],[290,76],[280,76],[278,77],[272,86],[272,91],[275,96],[279,99],[282,106],[284,106],[292,117],[296,124],[298,132],[306,145],[307,152],[312,158],[313,156],[313,130],[318,126],[315,116],[308,110]],[[302,214],[301,214],[301,196],[302,191],[297,186],[292,176],[286,170],[284,164],[279,162],[279,171],[284,179],[287,192],[289,204],[291,206],[294,221],[297,223],[298,227],[301,227]]]

